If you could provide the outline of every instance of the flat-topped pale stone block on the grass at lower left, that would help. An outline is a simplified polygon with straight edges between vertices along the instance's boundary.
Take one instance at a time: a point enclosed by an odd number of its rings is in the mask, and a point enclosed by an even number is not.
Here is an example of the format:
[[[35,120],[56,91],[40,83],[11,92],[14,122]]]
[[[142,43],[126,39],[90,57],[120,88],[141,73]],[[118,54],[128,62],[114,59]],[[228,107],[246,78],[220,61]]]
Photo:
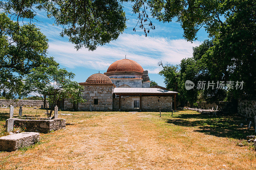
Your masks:
[[[28,147],[39,141],[39,133],[22,132],[0,137],[0,151],[15,151],[21,147]]]

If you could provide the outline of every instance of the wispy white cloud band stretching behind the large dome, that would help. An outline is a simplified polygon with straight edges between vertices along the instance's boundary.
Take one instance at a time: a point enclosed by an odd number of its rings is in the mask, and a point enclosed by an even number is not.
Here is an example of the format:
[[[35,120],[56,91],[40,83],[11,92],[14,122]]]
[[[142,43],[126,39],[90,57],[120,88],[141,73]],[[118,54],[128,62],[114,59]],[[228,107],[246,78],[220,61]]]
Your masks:
[[[124,33],[118,40],[98,47],[95,51],[80,49],[76,51],[74,44],[63,41],[49,42],[49,55],[54,56],[56,61],[68,68],[85,67],[95,70],[107,70],[108,66],[116,60],[128,59],[138,62],[149,73],[160,71],[157,63],[180,63],[185,57],[191,57],[193,44],[183,39],[168,39],[164,37],[145,37],[144,35]]]

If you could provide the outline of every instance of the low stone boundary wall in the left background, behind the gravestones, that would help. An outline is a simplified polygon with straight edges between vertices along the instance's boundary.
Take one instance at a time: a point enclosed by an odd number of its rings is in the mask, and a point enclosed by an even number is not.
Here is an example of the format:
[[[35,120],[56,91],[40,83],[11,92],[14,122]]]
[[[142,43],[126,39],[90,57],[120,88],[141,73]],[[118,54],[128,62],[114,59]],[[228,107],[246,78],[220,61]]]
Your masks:
[[[46,100],[47,106],[49,106],[49,101]],[[41,107],[41,105],[44,105],[44,102],[42,100],[5,100],[0,99],[0,106],[37,106]]]

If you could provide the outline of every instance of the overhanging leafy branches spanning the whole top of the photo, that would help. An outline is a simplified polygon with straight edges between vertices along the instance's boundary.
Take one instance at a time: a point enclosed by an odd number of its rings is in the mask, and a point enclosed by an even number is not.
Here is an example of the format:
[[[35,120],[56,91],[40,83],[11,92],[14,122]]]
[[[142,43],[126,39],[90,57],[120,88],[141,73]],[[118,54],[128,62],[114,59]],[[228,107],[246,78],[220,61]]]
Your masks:
[[[244,2],[246,0],[242,0]],[[223,26],[224,18],[237,11],[239,0],[5,0],[1,8],[13,18],[35,19],[37,10],[47,12],[54,24],[63,27],[61,36],[68,36],[76,48],[94,50],[116,40],[126,28],[123,3],[131,2],[132,11],[138,15],[137,27],[145,35],[155,29],[150,18],[161,22],[180,23],[187,41],[196,40],[197,32],[204,27],[210,37],[215,37]]]

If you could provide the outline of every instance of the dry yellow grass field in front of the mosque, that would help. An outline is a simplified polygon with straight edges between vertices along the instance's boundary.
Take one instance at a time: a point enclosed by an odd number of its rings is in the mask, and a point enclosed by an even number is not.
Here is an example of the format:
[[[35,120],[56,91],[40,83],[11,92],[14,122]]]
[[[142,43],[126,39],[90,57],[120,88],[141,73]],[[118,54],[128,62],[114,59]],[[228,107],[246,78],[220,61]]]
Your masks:
[[[14,115],[18,115],[15,109]],[[45,117],[45,110],[23,115]],[[8,109],[0,110],[4,129]],[[67,112],[66,129],[40,134],[29,148],[0,152],[0,169],[255,169],[256,152],[244,140],[254,129],[237,116],[195,111]],[[3,135],[0,134],[0,135]],[[240,147],[237,144],[244,143]]]

